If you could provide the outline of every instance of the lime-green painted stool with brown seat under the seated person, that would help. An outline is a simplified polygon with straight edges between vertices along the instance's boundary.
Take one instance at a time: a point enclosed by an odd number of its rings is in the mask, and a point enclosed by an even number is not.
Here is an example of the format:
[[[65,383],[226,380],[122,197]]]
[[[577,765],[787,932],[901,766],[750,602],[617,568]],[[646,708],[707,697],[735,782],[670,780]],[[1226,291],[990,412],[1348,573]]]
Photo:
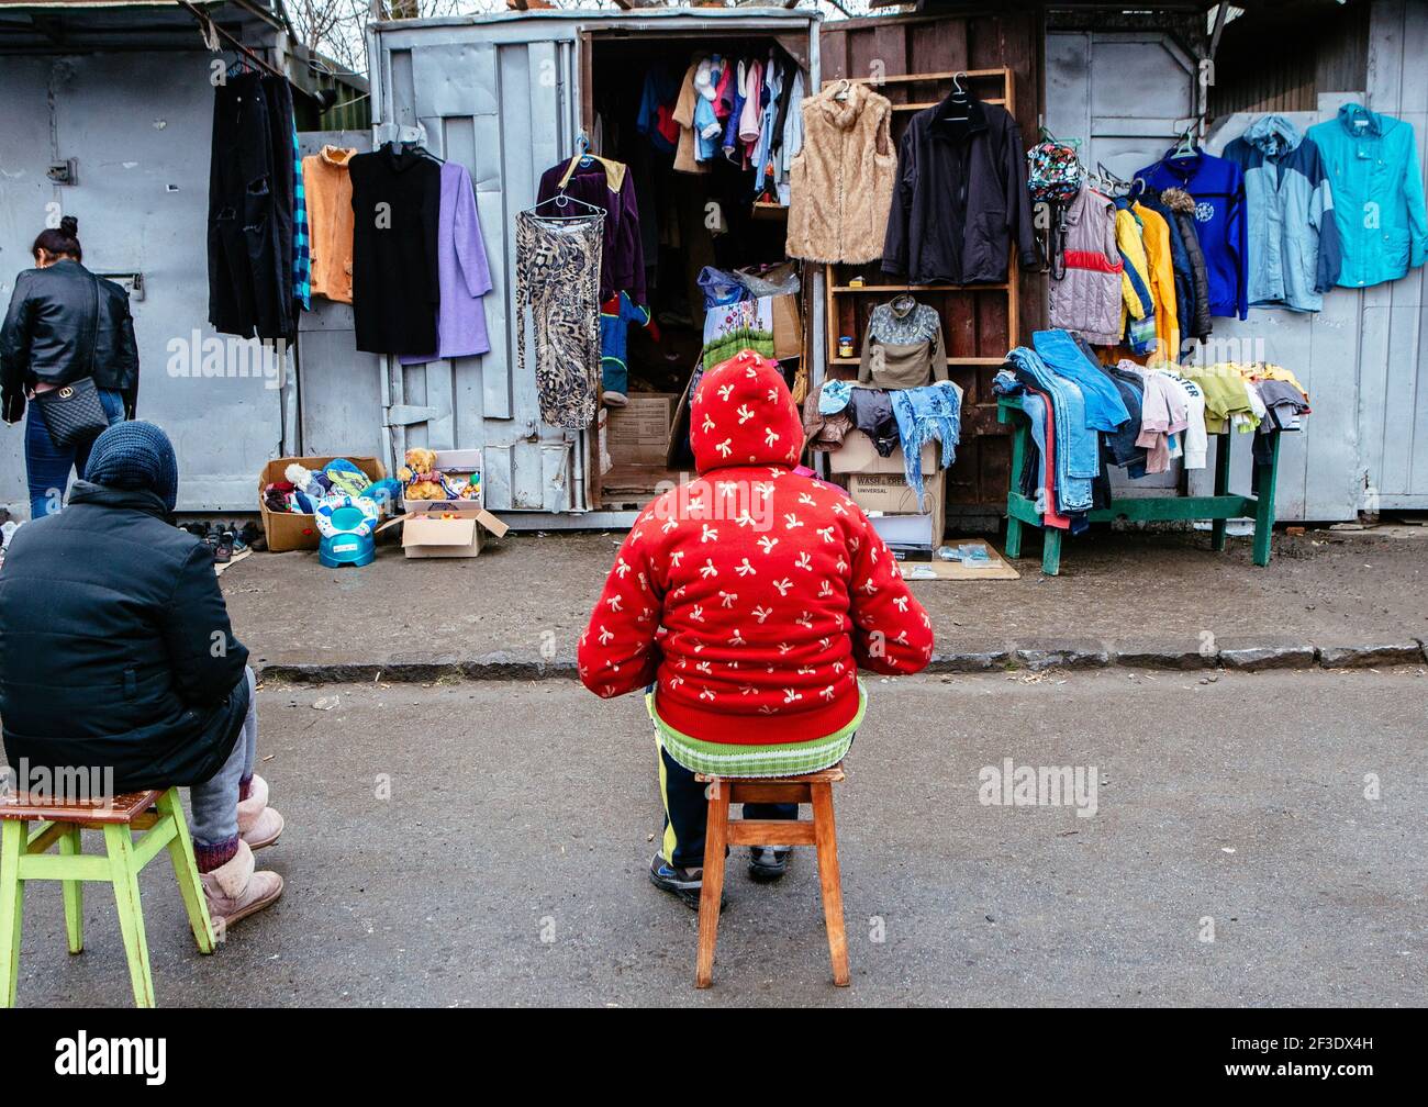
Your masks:
[[[30,823],[40,824],[34,833],[29,833]],[[81,830],[104,831],[106,857],[80,851]],[[133,836],[136,830],[144,831],[137,840]],[[60,853],[47,856],[46,850],[54,844],[59,844]],[[14,1007],[20,978],[20,914],[24,886],[30,880],[59,880],[64,884],[64,927],[70,953],[84,948],[84,881],[114,886],[134,1003],[153,1007],[154,981],[149,973],[139,874],[164,846],[169,847],[169,860],[178,878],[198,953],[213,953],[213,924],[178,788],[130,791],[76,804],[36,803],[23,793],[0,798],[0,1007]]]

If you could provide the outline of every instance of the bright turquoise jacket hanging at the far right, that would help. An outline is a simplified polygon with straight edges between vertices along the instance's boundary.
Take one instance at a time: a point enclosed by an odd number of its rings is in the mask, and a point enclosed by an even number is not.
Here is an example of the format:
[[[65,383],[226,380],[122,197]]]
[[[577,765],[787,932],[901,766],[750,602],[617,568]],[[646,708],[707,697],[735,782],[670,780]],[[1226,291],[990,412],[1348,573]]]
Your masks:
[[[1428,211],[1412,124],[1344,104],[1309,127],[1334,190],[1344,264],[1338,283],[1367,289],[1398,280],[1428,257]]]

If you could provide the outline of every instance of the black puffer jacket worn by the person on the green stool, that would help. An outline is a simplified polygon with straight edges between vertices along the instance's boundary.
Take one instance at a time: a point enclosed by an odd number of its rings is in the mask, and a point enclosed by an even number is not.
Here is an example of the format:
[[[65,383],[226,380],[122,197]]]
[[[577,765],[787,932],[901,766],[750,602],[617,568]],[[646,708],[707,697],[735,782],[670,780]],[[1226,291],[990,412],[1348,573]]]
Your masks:
[[[0,718],[11,766],[111,767],[119,791],[208,780],[248,706],[211,553],[151,491],[74,486],[0,567]]]

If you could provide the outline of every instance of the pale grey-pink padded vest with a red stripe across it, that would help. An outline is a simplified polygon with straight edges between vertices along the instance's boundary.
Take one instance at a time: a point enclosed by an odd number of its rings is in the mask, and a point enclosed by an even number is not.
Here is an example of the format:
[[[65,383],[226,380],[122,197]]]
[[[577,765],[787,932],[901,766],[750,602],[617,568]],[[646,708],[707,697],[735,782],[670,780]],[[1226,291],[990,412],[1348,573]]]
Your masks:
[[[1114,346],[1121,340],[1124,270],[1115,244],[1115,209],[1082,184],[1067,209],[1065,229],[1065,274],[1051,280],[1048,297],[1051,326],[1080,331],[1097,346]]]

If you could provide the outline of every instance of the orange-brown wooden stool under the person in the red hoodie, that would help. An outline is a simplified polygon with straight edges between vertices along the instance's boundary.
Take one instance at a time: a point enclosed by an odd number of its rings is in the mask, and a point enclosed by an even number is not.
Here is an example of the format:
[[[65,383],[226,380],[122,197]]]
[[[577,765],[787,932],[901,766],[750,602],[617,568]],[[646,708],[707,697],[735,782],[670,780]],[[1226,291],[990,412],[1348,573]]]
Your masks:
[[[833,786],[843,780],[843,763],[801,777],[711,777],[708,828],[704,831],[704,884],[700,890],[700,960],[694,986],[714,983],[714,943],[718,906],[724,897],[725,846],[817,846],[823,921],[828,930],[833,983],[848,986],[848,937],[843,928],[843,878],[838,876],[838,834],[833,823]],[[808,803],[813,821],[803,818],[728,818],[731,803]]]

